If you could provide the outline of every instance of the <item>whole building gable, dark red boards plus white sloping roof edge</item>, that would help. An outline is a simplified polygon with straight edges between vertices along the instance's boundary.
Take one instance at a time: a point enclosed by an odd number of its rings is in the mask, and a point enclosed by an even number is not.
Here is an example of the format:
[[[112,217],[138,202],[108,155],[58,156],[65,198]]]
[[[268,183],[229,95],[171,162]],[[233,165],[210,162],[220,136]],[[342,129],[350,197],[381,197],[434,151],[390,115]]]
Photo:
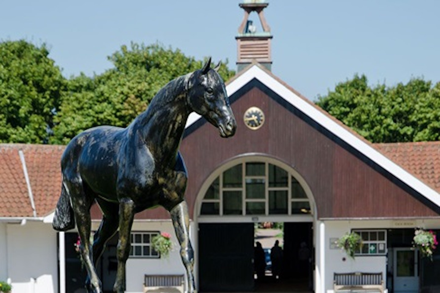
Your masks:
[[[197,117],[187,125],[181,152],[190,176],[191,207],[205,178],[224,161],[263,154],[306,179],[320,218],[438,216],[436,190],[259,66],[236,77],[227,92],[238,121],[233,138],[220,139]],[[250,106],[266,115],[257,131],[242,122]]]

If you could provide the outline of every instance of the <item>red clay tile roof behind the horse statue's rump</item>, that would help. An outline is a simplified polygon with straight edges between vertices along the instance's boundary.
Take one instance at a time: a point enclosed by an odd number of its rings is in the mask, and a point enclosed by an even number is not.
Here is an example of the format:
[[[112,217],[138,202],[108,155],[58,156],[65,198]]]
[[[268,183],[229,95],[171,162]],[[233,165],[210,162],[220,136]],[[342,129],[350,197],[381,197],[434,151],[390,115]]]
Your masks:
[[[37,216],[55,209],[65,146],[0,144],[0,217],[32,217],[33,209],[19,150],[23,151]]]

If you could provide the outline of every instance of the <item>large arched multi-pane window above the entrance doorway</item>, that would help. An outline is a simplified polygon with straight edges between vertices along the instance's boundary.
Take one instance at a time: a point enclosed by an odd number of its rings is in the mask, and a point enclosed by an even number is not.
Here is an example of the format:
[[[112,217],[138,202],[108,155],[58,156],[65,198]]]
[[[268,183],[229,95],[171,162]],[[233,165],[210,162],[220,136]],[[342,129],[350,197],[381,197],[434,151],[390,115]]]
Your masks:
[[[268,162],[245,162],[222,172],[206,191],[201,215],[291,215],[310,213],[301,184]]]

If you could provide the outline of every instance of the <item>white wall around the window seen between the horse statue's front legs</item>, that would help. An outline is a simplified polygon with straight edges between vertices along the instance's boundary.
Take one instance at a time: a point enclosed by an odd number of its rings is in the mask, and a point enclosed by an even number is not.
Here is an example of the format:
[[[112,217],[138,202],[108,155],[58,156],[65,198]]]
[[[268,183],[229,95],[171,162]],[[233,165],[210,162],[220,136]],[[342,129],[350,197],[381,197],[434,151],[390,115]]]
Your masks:
[[[190,235],[193,248],[194,242],[194,225],[191,222]],[[172,252],[168,258],[149,259],[149,258],[129,258],[127,261],[126,278],[127,292],[143,292],[143,280],[145,274],[161,275],[161,274],[185,274],[182,260],[180,258],[180,245],[177,241],[174,228],[170,220],[168,221],[145,221],[133,223],[132,231],[160,231],[167,232],[171,235],[173,242]]]

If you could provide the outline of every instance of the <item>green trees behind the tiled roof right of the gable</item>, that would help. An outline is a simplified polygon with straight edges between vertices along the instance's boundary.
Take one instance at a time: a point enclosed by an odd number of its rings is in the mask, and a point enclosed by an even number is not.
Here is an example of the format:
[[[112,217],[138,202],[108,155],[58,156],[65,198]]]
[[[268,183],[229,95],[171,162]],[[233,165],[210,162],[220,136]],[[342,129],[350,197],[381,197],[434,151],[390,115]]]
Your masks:
[[[439,139],[439,95],[440,83],[421,78],[387,88],[355,75],[316,104],[371,142],[426,141]]]

